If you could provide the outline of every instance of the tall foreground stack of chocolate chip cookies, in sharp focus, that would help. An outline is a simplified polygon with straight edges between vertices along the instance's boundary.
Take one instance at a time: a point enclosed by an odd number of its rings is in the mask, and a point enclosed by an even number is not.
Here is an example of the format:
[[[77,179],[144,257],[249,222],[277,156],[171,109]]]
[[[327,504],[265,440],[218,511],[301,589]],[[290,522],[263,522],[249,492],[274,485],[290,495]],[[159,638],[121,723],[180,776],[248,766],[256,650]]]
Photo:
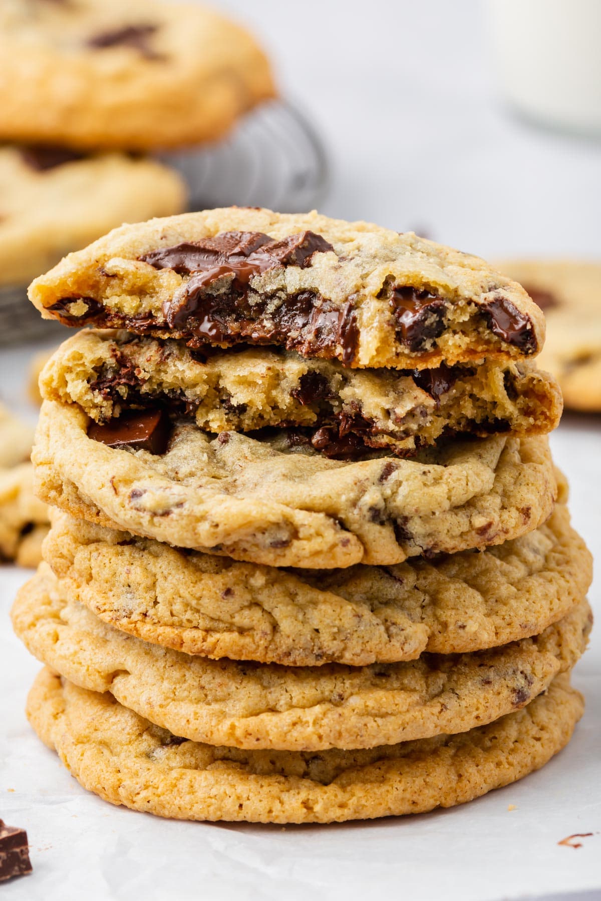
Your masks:
[[[13,614],[47,665],[33,727],[82,785],[330,822],[460,804],[569,741],[591,564],[519,285],[231,208],[125,226],[30,296],[94,326],[41,375],[58,509]]]

